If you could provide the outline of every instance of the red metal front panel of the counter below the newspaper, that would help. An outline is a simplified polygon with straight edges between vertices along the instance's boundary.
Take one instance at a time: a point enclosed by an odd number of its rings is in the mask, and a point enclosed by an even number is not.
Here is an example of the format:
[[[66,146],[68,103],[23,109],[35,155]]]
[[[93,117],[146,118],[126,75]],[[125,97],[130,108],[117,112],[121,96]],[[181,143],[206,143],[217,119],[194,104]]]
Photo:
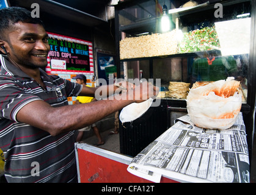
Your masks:
[[[79,183],[152,183],[127,171],[133,158],[86,143],[75,143]],[[161,183],[177,181],[161,178]]]

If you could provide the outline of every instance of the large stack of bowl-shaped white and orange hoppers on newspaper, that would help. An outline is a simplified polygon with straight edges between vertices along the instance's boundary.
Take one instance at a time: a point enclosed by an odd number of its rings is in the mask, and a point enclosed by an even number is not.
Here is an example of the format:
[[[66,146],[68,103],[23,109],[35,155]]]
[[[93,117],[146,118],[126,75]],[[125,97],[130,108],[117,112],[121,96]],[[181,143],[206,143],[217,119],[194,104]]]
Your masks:
[[[240,82],[228,77],[196,83],[186,97],[188,114],[198,127],[225,130],[233,126],[241,110]]]

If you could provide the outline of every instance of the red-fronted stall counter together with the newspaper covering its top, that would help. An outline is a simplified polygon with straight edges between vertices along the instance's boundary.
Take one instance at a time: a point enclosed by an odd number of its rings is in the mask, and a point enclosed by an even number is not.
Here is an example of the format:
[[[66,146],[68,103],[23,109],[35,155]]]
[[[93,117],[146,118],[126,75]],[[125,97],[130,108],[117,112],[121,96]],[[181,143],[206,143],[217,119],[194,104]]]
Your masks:
[[[250,182],[241,113],[227,130],[203,129],[181,116],[134,158],[86,143],[75,148],[81,183]]]

